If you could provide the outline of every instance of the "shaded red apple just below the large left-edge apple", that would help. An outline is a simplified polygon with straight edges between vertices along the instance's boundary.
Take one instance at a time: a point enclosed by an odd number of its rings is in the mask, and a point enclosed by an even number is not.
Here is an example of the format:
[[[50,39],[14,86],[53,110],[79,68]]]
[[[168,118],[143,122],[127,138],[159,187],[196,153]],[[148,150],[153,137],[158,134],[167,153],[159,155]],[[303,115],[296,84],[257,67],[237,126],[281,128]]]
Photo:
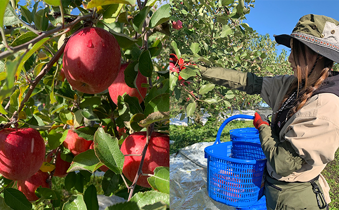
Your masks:
[[[34,193],[36,189],[40,186],[49,188],[49,185],[46,182],[48,176],[48,173],[39,170],[28,179],[17,181],[17,189],[27,197],[28,201],[36,201],[39,199]]]

